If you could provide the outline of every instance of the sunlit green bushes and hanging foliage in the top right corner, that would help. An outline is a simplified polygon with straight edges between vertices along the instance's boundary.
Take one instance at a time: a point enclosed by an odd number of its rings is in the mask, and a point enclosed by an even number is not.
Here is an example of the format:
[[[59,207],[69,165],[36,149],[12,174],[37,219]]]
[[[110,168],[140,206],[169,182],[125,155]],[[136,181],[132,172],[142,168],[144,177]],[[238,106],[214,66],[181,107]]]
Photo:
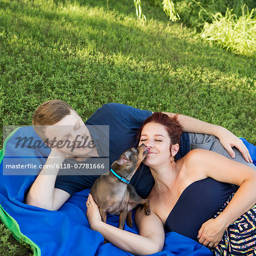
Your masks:
[[[254,2],[251,0],[150,0],[151,5],[161,6],[172,22],[201,31],[202,38],[216,42],[225,49],[246,56],[255,56]],[[141,0],[134,0],[139,20],[146,22]],[[245,11],[246,9],[246,11]],[[249,11],[249,9],[251,11]]]

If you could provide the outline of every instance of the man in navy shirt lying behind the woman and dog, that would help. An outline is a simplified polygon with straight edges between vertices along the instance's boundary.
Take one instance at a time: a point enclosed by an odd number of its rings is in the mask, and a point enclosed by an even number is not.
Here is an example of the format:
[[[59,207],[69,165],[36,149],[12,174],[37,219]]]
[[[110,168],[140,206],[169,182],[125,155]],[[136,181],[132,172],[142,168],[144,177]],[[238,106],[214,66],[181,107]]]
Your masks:
[[[54,165],[55,168],[51,169],[51,175],[47,168],[42,169],[29,189],[25,203],[57,210],[73,193],[92,187],[99,175],[82,175],[81,171],[77,172],[76,163],[84,163],[84,160],[109,154],[111,165],[123,151],[136,145],[137,130],[151,114],[148,110],[110,103],[97,109],[84,124],[77,112],[66,102],[44,102],[36,109],[32,123],[36,133],[51,147],[46,165]],[[170,117],[174,115],[166,114]],[[245,145],[230,131],[184,115],[178,115],[177,119],[184,131],[177,159],[193,148],[205,148],[255,168],[250,163],[252,160]],[[90,128],[99,125],[109,125],[109,138],[104,131],[95,133]],[[109,152],[106,154],[104,147],[108,140]],[[96,145],[89,147],[89,141],[95,142]],[[64,142],[72,142],[72,147],[57,147],[58,143],[63,145]],[[233,146],[240,152],[232,148]],[[64,167],[61,168],[62,174],[58,175],[60,166]],[[154,184],[149,168],[142,164],[133,176],[131,184],[140,196],[146,197]]]

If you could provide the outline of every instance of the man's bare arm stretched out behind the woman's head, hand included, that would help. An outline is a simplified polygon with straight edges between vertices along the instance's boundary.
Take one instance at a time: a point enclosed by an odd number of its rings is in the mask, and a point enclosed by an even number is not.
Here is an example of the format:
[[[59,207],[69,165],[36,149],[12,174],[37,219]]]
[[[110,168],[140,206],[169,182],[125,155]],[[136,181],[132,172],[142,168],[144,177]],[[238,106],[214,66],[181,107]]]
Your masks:
[[[174,117],[175,115],[173,113],[163,113],[169,115],[170,117]],[[253,162],[253,160],[251,160],[249,151],[247,150],[245,144],[243,144],[241,139],[237,138],[236,135],[234,135],[224,127],[212,125],[211,123],[203,122],[199,119],[180,114],[177,117],[177,121],[179,121],[180,125],[183,126],[183,131],[186,131],[187,133],[203,133],[218,137],[218,139],[220,139],[222,146],[225,147],[226,151],[228,151],[229,155],[232,158],[236,157],[232,147],[237,147],[238,150],[242,153],[243,158],[245,158],[247,163]]]

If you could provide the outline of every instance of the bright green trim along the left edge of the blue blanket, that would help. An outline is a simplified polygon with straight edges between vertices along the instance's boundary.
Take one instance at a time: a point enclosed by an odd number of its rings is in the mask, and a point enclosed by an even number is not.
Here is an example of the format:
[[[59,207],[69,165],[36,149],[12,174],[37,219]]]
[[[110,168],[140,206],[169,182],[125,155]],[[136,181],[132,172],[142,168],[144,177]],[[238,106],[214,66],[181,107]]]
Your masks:
[[[20,127],[16,128],[3,142],[3,149],[0,150],[0,164],[3,160],[3,157],[5,156],[5,148],[6,144],[9,141],[9,139],[13,136],[14,133],[19,129]],[[22,234],[20,232],[19,224],[16,222],[16,220],[11,217],[5,209],[3,209],[2,205],[0,204],[0,219],[2,220],[3,224],[13,232],[13,236],[16,240],[20,242],[20,240],[23,240],[24,242],[28,243],[30,245],[31,249],[34,251],[34,256],[40,256],[41,255],[41,250],[38,245],[36,245],[30,238]]]

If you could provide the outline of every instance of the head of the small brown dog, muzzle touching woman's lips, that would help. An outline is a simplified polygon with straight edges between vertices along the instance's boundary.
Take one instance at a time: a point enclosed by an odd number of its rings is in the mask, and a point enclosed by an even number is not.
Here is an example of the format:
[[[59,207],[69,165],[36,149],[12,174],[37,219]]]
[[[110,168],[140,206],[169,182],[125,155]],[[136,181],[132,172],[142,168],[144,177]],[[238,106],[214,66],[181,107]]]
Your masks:
[[[112,167],[114,170],[125,170],[129,173],[135,172],[144,158],[146,158],[147,153],[145,144],[141,144],[137,148],[131,147],[123,152],[119,159],[112,164]]]

